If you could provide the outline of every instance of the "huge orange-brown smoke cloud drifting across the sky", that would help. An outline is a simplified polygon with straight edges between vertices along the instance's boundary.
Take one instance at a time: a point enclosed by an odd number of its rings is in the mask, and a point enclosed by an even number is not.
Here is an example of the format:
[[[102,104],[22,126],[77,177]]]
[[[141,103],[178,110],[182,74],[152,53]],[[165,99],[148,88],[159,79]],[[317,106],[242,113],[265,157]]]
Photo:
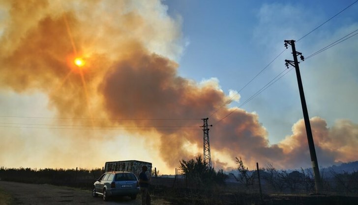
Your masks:
[[[165,173],[202,154],[199,126],[212,113],[215,168],[232,168],[238,156],[251,167],[310,166],[303,120],[270,144],[260,113],[220,108],[239,99],[216,78],[179,76],[182,19],[170,17],[161,1],[14,0],[0,8],[0,99],[7,99],[0,115],[10,124],[0,128],[0,166],[92,168],[137,159]],[[74,65],[76,57],[83,67]],[[45,110],[22,111],[38,107]],[[358,124],[328,127],[313,117],[311,126],[320,165],[357,160]]]

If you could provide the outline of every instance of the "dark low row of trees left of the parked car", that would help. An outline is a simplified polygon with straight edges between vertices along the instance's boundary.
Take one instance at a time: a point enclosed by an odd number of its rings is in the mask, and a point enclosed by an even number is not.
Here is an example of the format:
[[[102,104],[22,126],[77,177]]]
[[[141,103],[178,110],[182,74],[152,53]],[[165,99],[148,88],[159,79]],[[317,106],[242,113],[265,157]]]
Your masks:
[[[0,179],[36,184],[90,188],[102,169],[0,169]]]

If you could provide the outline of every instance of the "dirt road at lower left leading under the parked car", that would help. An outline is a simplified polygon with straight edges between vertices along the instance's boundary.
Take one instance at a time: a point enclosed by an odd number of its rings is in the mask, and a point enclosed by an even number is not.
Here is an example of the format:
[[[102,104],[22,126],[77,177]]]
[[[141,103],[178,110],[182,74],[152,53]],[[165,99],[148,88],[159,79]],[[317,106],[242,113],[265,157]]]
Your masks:
[[[90,190],[60,187],[48,184],[25,184],[0,181],[0,189],[12,195],[18,205],[140,205],[136,200],[119,197],[103,202],[101,197],[93,198]]]

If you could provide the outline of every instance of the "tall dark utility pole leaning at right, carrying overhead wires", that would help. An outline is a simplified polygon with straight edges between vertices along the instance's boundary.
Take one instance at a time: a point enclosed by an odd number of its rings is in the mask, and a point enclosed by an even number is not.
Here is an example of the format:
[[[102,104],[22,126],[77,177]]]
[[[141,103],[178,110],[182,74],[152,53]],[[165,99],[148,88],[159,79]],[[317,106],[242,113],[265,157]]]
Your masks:
[[[321,181],[321,176],[320,176],[320,170],[318,167],[315,144],[314,144],[313,136],[312,136],[311,124],[309,122],[309,117],[308,117],[306,100],[304,98],[301,74],[299,72],[299,67],[298,67],[299,62],[297,60],[297,56],[300,56],[300,59],[302,61],[304,61],[304,57],[302,56],[302,53],[296,51],[295,40],[285,40],[286,48],[288,48],[288,44],[290,44],[292,47],[292,55],[294,56],[294,61],[285,60],[285,62],[286,62],[285,65],[287,68],[289,65],[296,68],[298,90],[299,90],[299,96],[301,98],[301,105],[302,105],[302,111],[303,111],[304,125],[306,127],[309,153],[311,155],[311,163],[312,163],[313,174],[314,174],[314,178],[315,178],[316,193],[319,193],[322,190],[322,181]]]

